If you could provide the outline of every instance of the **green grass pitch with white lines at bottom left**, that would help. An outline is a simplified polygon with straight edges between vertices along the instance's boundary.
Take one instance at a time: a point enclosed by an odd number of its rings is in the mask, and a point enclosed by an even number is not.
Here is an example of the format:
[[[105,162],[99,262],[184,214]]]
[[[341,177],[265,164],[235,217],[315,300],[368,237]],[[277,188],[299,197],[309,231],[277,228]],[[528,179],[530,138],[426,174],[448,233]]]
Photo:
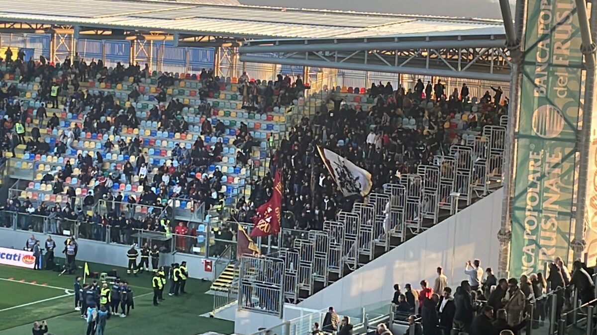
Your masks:
[[[82,262],[78,262],[82,266]],[[106,334],[196,335],[207,331],[231,334],[230,321],[205,318],[199,315],[213,308],[212,296],[205,294],[210,282],[189,279],[189,294],[171,297],[158,307],[152,305],[151,274],[127,277],[126,269],[89,263],[90,271],[106,272],[116,269],[134,291],[135,309],[126,318],[113,316],[107,321]],[[192,271],[192,269],[189,269]],[[83,271],[79,269],[79,275]],[[80,335],[87,329],[81,312],[74,310],[73,282],[75,275],[61,275],[54,271],[0,265],[0,335],[31,334],[33,321],[47,320],[50,334]],[[91,283],[93,278],[88,278]],[[170,283],[167,283],[167,289]]]

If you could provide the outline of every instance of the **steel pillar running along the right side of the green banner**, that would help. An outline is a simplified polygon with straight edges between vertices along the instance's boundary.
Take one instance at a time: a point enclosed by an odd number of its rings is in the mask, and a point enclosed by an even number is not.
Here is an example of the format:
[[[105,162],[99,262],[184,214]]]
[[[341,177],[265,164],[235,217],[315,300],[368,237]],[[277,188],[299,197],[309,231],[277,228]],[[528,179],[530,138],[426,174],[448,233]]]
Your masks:
[[[591,6],[591,24],[589,24],[586,5],[585,0],[576,0],[576,13],[578,15],[580,36],[583,41],[581,48],[584,54],[586,72],[584,76],[583,128],[577,136],[580,162],[578,165],[574,240],[571,242],[571,247],[574,252],[573,259],[580,258],[582,252],[586,249],[586,241],[583,238],[584,212],[586,210],[587,173],[589,169],[589,138],[592,123],[593,99],[595,98],[595,44],[593,44],[593,41],[597,38],[597,6]]]

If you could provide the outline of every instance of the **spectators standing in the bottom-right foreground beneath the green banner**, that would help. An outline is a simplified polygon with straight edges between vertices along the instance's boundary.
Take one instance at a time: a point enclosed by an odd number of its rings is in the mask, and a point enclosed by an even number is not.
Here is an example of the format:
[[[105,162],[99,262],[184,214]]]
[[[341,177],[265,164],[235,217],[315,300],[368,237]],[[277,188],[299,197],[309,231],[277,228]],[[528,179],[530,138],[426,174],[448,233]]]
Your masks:
[[[470,335],[515,335],[524,328],[537,329],[552,315],[552,301],[555,300],[555,320],[563,313],[580,304],[595,303],[595,269],[587,268],[576,260],[572,272],[556,258],[549,263],[549,275],[543,273],[521,275],[516,278],[497,280],[491,268],[484,269],[480,260],[467,262],[463,274],[469,279],[461,281],[457,287],[448,283],[443,269],[438,267],[433,284],[422,280],[420,289],[405,284],[402,290],[394,285],[392,305],[396,321],[408,324],[405,335],[450,335],[455,332]],[[455,290],[453,290],[455,289]],[[577,294],[572,294],[573,291]],[[547,321],[547,322],[544,322]],[[314,334],[334,332],[350,334],[352,326],[349,318],[340,317],[330,307],[321,327],[315,324]],[[411,329],[413,328],[414,329]],[[343,331],[344,328],[344,331]],[[383,334],[387,327],[378,327]],[[504,333],[503,331],[506,331]]]

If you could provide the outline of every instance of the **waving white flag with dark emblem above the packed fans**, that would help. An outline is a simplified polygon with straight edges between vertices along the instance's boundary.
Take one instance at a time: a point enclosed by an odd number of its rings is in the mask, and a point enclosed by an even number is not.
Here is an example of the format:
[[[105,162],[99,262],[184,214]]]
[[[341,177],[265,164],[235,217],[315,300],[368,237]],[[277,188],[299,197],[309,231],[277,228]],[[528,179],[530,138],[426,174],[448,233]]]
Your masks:
[[[325,167],[330,171],[332,178],[338,185],[342,194],[345,197],[353,194],[360,194],[367,196],[371,191],[371,173],[367,170],[359,168],[354,163],[346,158],[334,153],[334,151],[327,150],[322,147],[317,147],[319,156],[324,161]]]

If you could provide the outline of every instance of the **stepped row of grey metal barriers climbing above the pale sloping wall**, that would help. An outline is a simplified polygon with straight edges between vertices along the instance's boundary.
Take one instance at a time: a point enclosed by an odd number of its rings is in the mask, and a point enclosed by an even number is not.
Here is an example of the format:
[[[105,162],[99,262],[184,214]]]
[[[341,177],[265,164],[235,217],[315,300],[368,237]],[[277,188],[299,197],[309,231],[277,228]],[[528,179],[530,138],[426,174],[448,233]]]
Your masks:
[[[382,193],[369,194],[350,212],[338,212],[336,219],[324,222],[322,231],[289,231],[287,238],[283,229],[278,250],[270,247],[264,258],[241,263],[240,283],[246,285],[245,290],[241,285],[239,306],[279,315],[284,302],[300,302],[316,287],[328,286],[330,278],[339,280],[437,224],[440,215],[453,215],[487,196],[501,186],[505,136],[504,126],[485,126],[480,134],[435,156],[431,165],[383,185]],[[263,250],[263,240],[260,245]]]

